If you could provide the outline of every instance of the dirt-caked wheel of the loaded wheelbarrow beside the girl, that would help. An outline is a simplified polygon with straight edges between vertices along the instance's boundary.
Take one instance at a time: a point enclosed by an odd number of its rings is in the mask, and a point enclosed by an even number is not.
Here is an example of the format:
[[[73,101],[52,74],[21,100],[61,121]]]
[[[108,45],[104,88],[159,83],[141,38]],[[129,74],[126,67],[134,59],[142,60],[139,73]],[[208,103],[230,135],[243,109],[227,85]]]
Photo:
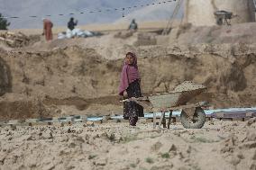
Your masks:
[[[185,111],[180,114],[181,124],[186,129],[201,129],[206,122],[206,113],[200,107],[196,108],[193,118],[189,118]]]

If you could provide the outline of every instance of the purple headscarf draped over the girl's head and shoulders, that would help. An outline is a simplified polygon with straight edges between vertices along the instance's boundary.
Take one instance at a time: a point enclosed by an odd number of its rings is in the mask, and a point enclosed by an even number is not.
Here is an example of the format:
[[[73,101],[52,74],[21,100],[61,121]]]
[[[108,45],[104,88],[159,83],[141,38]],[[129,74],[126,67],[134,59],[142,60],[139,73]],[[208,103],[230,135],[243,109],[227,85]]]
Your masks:
[[[124,60],[123,69],[121,73],[121,82],[119,85],[119,94],[123,95],[123,92],[128,88],[129,84],[133,83],[135,80],[141,79],[138,66],[137,58],[133,52],[128,52],[125,58],[131,55],[133,57],[133,64],[129,65],[126,60]]]

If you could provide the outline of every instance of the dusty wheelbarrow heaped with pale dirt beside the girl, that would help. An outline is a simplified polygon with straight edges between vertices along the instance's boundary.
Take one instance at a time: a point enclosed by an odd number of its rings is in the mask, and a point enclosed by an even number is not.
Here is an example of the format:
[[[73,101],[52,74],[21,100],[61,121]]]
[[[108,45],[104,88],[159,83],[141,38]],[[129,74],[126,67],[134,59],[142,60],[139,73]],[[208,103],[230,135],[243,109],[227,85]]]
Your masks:
[[[207,106],[207,102],[188,103],[198,94],[206,90],[206,86],[197,85],[186,81],[178,85],[174,91],[162,94],[151,94],[150,96],[129,98],[121,102],[135,102],[142,107],[147,107],[153,112],[153,128],[156,128],[156,112],[161,112],[159,127],[163,124],[166,128],[165,113],[169,112],[168,129],[171,121],[172,112],[182,110],[180,114],[181,124],[186,129],[201,129],[206,122],[206,113],[202,107]]]

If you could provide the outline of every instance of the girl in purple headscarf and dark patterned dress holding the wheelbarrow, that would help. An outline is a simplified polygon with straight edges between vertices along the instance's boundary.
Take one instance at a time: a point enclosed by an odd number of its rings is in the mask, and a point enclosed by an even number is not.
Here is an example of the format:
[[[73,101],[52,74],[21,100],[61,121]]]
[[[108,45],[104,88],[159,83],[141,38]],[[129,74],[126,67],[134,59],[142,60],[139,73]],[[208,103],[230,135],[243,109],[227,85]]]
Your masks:
[[[119,85],[119,94],[125,98],[141,97],[141,77],[137,66],[137,58],[133,52],[128,52],[124,59]],[[143,117],[143,108],[135,102],[123,103],[123,119],[129,120],[131,126],[136,126],[138,117]]]

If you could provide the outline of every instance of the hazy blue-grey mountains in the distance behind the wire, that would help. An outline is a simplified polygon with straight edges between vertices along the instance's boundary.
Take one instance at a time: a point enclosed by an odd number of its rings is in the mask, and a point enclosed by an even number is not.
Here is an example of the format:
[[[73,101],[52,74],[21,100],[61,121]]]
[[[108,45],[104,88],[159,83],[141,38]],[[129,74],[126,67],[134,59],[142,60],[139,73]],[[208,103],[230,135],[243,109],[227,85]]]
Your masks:
[[[161,0],[163,1],[163,0]],[[10,29],[41,28],[41,18],[45,15],[55,26],[65,26],[71,16],[78,19],[78,24],[105,23],[105,22],[130,22],[132,18],[138,21],[158,21],[169,18],[173,4],[157,4],[142,7],[141,4],[151,4],[160,0],[0,0],[0,13],[5,16],[19,16],[21,19],[9,19]],[[106,12],[106,9],[121,9],[122,7],[138,6],[129,11]],[[90,11],[103,10],[102,13],[89,13]],[[83,14],[76,14],[83,12]],[[59,16],[59,13],[65,15]],[[68,13],[75,13],[70,15]],[[37,15],[38,18],[30,18]]]

